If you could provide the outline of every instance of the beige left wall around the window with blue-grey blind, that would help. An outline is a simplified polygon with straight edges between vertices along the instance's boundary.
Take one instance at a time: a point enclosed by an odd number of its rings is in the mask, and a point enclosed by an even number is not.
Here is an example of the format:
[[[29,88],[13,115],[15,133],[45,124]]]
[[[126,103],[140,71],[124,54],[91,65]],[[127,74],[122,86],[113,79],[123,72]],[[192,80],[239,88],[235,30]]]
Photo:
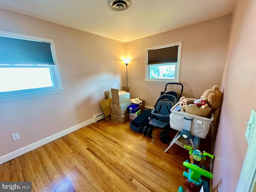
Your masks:
[[[104,91],[120,88],[124,43],[0,9],[0,30],[53,39],[63,93],[0,103],[0,156],[102,112]],[[3,83],[3,82],[1,82]],[[20,139],[12,141],[18,132]]]

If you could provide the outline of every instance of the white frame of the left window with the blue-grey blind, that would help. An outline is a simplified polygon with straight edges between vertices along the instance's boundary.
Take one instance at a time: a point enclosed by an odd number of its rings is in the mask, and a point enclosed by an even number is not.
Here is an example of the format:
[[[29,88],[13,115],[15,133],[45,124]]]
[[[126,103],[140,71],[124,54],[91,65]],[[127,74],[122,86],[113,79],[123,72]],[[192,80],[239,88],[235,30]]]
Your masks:
[[[54,86],[45,87],[45,88],[33,88],[27,90],[15,90],[15,91],[8,91],[8,92],[1,92],[0,93],[0,102],[6,102],[11,100],[18,100],[23,98],[31,98],[36,96],[43,96],[48,94],[55,94],[63,92],[62,81],[60,77],[60,71],[58,67],[58,60],[56,55],[56,50],[54,46],[54,40],[48,38],[41,38],[36,36],[24,35],[24,34],[17,34],[12,32],[5,32],[0,31],[0,36],[10,37],[10,38],[20,38],[24,40],[34,40],[34,41],[41,41],[41,42],[48,42],[51,45],[52,50],[52,57],[54,60],[54,65],[6,65],[0,64],[0,68],[50,68],[51,77],[54,82]]]

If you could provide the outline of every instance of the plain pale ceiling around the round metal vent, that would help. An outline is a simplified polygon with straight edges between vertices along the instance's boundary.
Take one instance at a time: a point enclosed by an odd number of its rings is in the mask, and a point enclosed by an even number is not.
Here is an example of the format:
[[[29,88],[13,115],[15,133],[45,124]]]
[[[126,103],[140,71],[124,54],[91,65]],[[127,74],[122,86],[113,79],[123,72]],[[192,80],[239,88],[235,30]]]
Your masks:
[[[236,0],[130,0],[125,11],[109,0],[0,0],[0,8],[128,42],[232,14]]]

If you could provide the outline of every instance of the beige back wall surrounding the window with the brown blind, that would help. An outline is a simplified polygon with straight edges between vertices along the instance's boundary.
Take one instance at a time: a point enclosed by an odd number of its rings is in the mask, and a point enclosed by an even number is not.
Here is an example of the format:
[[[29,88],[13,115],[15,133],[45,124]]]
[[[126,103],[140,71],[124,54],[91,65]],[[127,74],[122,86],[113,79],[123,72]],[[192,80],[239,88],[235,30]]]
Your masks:
[[[224,16],[126,42],[126,55],[133,58],[128,64],[128,86],[131,97],[145,100],[146,106],[154,107],[160,92],[164,91],[165,84],[145,82],[145,49],[180,41],[182,41],[180,82],[184,85],[183,96],[199,98],[213,85],[220,87],[229,28],[230,16]],[[168,86],[168,88],[180,91],[180,86]]]

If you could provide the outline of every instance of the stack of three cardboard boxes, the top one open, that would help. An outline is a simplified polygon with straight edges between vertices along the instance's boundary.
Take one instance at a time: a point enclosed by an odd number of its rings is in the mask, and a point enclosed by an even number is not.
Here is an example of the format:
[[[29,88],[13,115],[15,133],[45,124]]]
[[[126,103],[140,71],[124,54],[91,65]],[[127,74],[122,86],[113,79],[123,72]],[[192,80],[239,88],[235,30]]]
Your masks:
[[[111,120],[124,123],[129,119],[128,106],[130,102],[130,89],[122,87],[122,91],[111,89],[112,104],[111,104]]]

